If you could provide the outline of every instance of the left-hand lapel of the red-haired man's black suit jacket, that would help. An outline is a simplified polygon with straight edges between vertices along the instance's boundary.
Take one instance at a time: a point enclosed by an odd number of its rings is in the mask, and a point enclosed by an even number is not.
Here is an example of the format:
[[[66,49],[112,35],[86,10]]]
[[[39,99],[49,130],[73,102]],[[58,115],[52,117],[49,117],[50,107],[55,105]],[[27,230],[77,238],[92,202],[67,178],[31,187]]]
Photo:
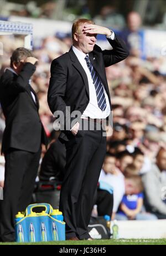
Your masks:
[[[84,68],[82,67],[82,65],[80,64],[79,60],[77,59],[74,51],[72,51],[72,48],[70,48],[69,54],[70,54],[70,58],[72,61],[72,65],[76,68],[77,71],[79,71],[80,75],[82,76],[87,94],[89,95],[89,83],[87,80],[86,72],[85,72]]]

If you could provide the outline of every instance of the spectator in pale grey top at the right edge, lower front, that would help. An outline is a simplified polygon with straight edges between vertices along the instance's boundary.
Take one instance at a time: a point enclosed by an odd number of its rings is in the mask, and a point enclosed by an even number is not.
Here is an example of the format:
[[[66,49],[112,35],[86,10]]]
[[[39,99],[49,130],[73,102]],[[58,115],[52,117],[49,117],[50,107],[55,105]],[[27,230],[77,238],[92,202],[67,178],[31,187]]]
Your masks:
[[[159,219],[166,219],[166,149],[161,147],[156,157],[156,163],[151,171],[142,176],[145,206],[148,211],[154,213]]]

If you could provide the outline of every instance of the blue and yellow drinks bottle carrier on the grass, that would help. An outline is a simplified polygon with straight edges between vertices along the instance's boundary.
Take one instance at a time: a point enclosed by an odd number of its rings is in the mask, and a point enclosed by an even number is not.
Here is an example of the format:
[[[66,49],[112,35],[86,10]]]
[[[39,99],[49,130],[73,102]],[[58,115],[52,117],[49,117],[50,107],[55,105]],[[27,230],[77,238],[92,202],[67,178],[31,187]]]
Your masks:
[[[45,208],[35,213],[36,208]],[[16,242],[45,242],[65,240],[65,222],[59,210],[53,210],[50,204],[30,204],[25,214],[15,215]]]

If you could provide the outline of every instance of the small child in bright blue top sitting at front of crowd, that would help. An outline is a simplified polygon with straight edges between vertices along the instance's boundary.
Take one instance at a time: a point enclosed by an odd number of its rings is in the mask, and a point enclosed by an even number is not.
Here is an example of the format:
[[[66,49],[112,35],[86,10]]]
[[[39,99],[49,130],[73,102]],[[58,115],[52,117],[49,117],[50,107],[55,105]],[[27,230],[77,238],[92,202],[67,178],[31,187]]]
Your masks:
[[[156,220],[157,216],[142,212],[143,186],[138,175],[125,178],[125,195],[123,195],[120,210],[116,214],[117,220]]]

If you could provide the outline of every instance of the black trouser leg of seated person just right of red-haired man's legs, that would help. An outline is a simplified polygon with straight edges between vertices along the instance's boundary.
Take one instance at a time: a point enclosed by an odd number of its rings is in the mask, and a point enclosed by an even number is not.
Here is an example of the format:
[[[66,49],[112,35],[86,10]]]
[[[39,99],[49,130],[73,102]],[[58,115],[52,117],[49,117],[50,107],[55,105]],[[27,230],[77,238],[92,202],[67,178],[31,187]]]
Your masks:
[[[113,194],[106,190],[97,189],[94,199],[94,204],[97,205],[98,216],[112,216],[113,209]]]

